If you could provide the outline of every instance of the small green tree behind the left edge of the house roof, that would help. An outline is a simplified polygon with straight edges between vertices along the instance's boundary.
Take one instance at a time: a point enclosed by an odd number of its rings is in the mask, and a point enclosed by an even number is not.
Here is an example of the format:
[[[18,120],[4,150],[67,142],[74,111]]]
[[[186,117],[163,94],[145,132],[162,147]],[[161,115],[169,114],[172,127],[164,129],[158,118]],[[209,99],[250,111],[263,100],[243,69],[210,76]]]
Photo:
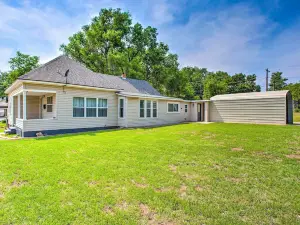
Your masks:
[[[0,73],[0,96],[20,76],[39,66],[39,57],[17,51],[16,56],[8,61],[10,71]]]

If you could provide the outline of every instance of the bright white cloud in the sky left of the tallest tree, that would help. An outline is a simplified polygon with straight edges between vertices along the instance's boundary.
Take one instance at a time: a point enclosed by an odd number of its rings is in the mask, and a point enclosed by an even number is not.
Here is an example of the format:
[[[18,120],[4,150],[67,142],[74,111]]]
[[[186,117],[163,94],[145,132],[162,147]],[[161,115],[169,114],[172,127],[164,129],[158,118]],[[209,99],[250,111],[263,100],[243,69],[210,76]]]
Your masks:
[[[41,62],[52,59],[61,52],[59,46],[88,21],[87,13],[68,16],[60,10],[32,7],[29,2],[21,8],[14,8],[0,2],[1,45],[10,51],[40,56]],[[1,40],[0,39],[0,40]],[[7,43],[9,40],[9,43]],[[7,44],[6,44],[7,43]],[[9,58],[2,60],[8,61]],[[2,63],[2,67],[5,63]]]

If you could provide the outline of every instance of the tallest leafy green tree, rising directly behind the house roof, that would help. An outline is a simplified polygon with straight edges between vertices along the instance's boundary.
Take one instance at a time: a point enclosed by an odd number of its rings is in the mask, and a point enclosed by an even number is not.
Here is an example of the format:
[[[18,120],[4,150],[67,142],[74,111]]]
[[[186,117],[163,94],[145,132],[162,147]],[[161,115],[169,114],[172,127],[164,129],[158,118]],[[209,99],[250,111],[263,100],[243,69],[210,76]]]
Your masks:
[[[61,50],[95,72],[145,79],[162,92],[170,74],[177,73],[177,55],[157,41],[157,30],[132,25],[131,15],[120,9],[102,9]]]

